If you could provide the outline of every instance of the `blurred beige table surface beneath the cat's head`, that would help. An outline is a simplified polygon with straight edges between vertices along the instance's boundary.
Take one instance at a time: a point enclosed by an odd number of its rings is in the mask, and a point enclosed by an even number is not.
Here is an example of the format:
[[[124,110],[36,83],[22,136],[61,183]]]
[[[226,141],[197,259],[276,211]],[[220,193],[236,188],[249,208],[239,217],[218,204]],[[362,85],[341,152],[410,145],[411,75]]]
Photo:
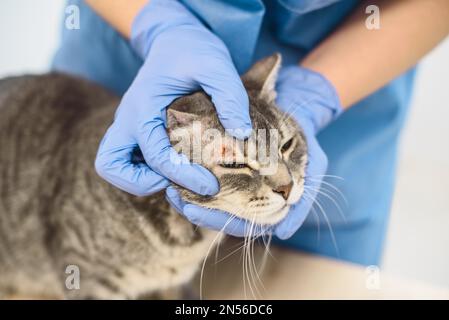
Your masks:
[[[260,293],[253,294],[246,285],[245,294],[242,252],[238,251],[220,261],[236,247],[236,240],[227,239],[220,247],[218,257],[214,251],[211,253],[203,275],[203,298],[449,299],[449,288],[446,287],[402,279],[382,271],[376,273],[363,266],[276,246],[271,247],[272,257],[268,257],[260,274],[264,288],[259,282]],[[256,248],[258,257],[262,256],[261,247]],[[218,263],[215,263],[216,258]],[[197,283],[199,288],[199,281]]]

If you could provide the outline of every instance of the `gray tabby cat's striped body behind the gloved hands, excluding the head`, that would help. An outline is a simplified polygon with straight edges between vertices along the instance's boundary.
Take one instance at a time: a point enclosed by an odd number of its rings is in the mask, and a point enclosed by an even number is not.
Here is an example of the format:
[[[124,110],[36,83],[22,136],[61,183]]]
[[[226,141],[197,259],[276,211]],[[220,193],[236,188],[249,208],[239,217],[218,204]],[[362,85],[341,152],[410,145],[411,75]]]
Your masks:
[[[98,144],[118,103],[61,74],[0,81],[0,298],[137,298],[188,282],[206,257],[215,231],[192,225],[163,193],[135,197],[96,174]],[[293,165],[299,186],[304,150]],[[230,175],[219,177],[222,187],[235,183]],[[73,268],[79,289],[66,283]]]

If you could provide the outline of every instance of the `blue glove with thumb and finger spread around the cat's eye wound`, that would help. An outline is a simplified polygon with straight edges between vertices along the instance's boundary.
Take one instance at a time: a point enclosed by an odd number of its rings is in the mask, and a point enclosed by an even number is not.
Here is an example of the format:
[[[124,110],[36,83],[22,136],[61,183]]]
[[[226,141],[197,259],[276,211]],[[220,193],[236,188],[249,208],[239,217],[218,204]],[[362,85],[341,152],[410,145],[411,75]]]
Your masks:
[[[237,138],[250,133],[248,96],[224,43],[178,1],[152,0],[133,22],[131,44],[144,64],[100,144],[98,174],[138,196],[166,188],[169,180],[199,194],[217,193],[216,178],[170,145],[165,109],[203,89],[225,128],[241,129]],[[137,147],[146,163],[132,161]]]

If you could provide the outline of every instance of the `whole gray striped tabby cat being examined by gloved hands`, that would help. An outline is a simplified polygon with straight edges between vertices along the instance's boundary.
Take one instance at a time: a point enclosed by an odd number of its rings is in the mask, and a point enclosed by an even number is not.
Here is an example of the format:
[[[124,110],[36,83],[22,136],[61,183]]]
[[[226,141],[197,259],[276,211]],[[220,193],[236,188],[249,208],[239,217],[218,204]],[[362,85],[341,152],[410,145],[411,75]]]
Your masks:
[[[299,200],[306,143],[274,104],[279,65],[276,54],[243,76],[253,127],[279,130],[275,174],[206,156],[201,164],[220,192],[203,197],[178,187],[185,200],[262,224],[279,222]],[[198,271],[217,232],[192,225],[163,192],[135,197],[95,172],[118,103],[101,87],[62,74],[0,81],[0,297],[132,299],[179,287]],[[167,119],[171,132],[197,120],[224,133],[203,92],[173,102]],[[222,143],[230,148],[228,139]],[[68,266],[80,270],[79,289],[66,288]]]

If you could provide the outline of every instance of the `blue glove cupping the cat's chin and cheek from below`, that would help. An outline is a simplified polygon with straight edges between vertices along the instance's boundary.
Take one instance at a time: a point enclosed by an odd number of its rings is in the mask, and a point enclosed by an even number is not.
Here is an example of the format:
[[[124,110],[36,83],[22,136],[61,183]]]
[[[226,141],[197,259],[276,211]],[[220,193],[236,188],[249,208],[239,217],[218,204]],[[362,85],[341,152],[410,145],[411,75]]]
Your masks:
[[[274,230],[270,230],[279,238],[287,239],[299,229],[307,217],[327,169],[327,157],[315,135],[334,120],[342,112],[342,108],[333,85],[320,74],[302,67],[282,68],[276,90],[277,105],[300,124],[308,145],[306,195],[291,207],[288,215],[274,226]],[[168,201],[195,224],[223,230],[234,236],[248,234],[249,223],[245,220],[234,217],[229,222],[229,213],[185,203],[172,187],[167,188],[166,195]],[[260,234],[264,231],[266,230],[259,226],[257,232]]]

